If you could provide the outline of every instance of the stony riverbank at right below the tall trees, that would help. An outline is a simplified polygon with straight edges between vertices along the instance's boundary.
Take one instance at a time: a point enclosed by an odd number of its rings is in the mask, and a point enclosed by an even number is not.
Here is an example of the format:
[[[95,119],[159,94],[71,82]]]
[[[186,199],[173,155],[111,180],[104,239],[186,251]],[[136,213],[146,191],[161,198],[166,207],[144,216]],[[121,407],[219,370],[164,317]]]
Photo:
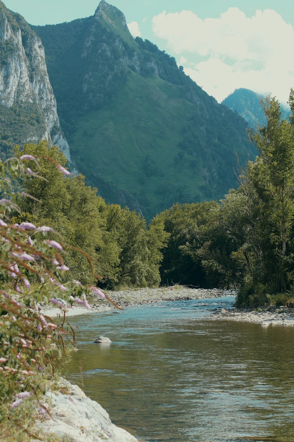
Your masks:
[[[212,320],[233,320],[252,322],[264,327],[268,325],[294,326],[294,309],[270,306],[256,311],[253,309],[220,309],[210,315]]]

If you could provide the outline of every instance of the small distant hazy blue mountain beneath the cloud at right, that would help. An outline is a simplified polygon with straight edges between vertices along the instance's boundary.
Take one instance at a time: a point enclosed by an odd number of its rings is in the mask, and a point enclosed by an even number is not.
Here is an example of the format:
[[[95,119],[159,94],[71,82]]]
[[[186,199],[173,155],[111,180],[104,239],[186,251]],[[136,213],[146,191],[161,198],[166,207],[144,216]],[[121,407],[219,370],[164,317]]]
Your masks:
[[[225,104],[230,110],[236,111],[248,123],[249,127],[266,125],[267,121],[264,116],[264,110],[260,104],[260,98],[264,99],[264,95],[258,95],[250,89],[240,88],[227,96],[222,104]],[[288,119],[290,107],[281,105],[281,118]]]

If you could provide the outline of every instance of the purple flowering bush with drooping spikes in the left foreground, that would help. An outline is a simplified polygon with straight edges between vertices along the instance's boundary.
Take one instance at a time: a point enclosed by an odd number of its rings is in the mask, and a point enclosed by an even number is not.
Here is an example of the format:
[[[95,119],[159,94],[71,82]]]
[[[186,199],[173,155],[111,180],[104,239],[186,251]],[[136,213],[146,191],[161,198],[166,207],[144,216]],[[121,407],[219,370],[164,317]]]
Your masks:
[[[28,176],[40,179],[28,163],[38,164],[41,158],[68,175],[49,157],[23,155],[0,162],[0,426],[22,427],[28,434],[22,407],[34,400],[40,415],[48,412],[42,403],[44,381],[54,376],[60,358],[66,355],[65,341],[75,339],[65,320],[64,304],[58,299],[90,309],[86,300],[90,290],[106,297],[98,287],[67,280],[69,268],[62,255],[72,247],[47,239],[53,229],[32,222],[11,223],[10,214],[19,212],[21,198],[30,198],[20,190],[22,183]],[[93,270],[90,257],[83,255]],[[62,318],[54,321],[42,315],[41,303],[59,307]]]

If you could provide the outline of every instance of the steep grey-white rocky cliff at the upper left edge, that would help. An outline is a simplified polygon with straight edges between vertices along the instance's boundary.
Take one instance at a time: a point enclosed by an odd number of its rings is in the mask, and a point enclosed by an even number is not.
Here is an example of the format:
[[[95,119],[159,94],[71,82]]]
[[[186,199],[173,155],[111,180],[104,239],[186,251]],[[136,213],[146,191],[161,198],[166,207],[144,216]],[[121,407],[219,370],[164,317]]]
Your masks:
[[[63,150],[56,99],[49,81],[44,48],[26,21],[0,1],[0,149],[41,139]]]

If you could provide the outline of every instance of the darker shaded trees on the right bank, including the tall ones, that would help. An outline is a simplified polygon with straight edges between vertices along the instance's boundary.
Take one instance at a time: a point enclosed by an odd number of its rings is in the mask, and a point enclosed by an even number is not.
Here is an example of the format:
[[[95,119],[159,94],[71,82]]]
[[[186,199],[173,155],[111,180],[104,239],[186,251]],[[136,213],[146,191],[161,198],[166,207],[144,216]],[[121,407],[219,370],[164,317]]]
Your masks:
[[[294,276],[294,92],[292,114],[266,97],[267,126],[250,133],[259,156],[239,167],[237,190],[220,204],[174,205],[160,214],[168,247],[163,282],[239,288],[239,304],[285,303]]]

